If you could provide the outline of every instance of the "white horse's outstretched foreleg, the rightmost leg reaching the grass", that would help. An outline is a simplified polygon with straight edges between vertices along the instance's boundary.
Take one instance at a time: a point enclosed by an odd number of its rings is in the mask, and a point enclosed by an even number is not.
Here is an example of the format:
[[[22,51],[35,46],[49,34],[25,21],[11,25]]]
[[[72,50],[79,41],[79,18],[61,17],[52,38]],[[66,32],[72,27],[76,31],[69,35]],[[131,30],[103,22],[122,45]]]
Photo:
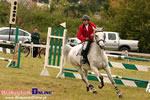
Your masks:
[[[108,66],[105,68],[105,71],[106,71],[106,73],[107,73],[107,75],[108,75],[109,80],[110,80],[111,83],[113,84],[113,86],[114,86],[114,88],[115,88],[115,90],[116,90],[116,92],[117,92],[119,98],[122,98],[122,94],[120,93],[120,90],[118,89],[116,83],[114,82],[114,80],[113,80],[113,78],[112,78],[112,76],[111,76],[110,68],[109,68]]]

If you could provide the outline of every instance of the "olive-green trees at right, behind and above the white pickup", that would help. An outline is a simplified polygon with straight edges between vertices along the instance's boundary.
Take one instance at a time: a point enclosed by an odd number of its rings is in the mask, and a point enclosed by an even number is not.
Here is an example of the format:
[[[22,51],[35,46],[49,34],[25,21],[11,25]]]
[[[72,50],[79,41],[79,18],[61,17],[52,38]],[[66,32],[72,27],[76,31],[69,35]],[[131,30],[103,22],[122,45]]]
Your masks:
[[[140,52],[150,52],[149,1],[126,0],[119,4],[119,7],[110,6],[108,1],[103,4],[101,14],[105,27],[109,31],[119,32],[123,39],[139,40]]]

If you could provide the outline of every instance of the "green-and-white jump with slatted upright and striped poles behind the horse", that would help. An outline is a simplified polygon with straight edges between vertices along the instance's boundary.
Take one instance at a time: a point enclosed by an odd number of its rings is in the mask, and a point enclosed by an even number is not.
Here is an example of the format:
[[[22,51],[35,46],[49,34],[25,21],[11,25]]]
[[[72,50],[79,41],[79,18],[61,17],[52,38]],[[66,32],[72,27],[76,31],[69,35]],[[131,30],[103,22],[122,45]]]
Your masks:
[[[47,70],[48,67],[50,68],[57,68],[60,69],[61,66],[63,66],[63,47],[65,45],[65,38],[66,38],[66,29],[63,28],[48,28],[48,34],[47,34],[47,44],[46,44],[46,55],[45,55],[45,63],[44,68],[41,72],[41,76],[49,76],[49,72]],[[119,66],[116,62],[109,62],[110,67],[122,67],[124,69],[132,69],[137,71],[148,71],[147,68],[141,68],[141,66],[135,66],[135,65],[125,65],[122,64]],[[64,76],[70,77],[70,78],[77,78],[81,79],[81,76],[76,73],[78,72],[76,69],[70,69],[70,68],[64,68]],[[89,72],[88,80],[92,81],[99,81],[96,76],[94,76],[93,72]],[[105,76],[104,81],[106,83],[110,83],[110,81],[107,78],[106,74],[103,74]],[[133,87],[140,87],[140,88],[147,88],[147,91],[149,91],[149,81],[147,80],[140,80],[140,79],[134,79],[129,77],[122,77],[117,75],[112,75],[114,78],[114,81],[116,84],[125,85],[125,86],[133,86]]]

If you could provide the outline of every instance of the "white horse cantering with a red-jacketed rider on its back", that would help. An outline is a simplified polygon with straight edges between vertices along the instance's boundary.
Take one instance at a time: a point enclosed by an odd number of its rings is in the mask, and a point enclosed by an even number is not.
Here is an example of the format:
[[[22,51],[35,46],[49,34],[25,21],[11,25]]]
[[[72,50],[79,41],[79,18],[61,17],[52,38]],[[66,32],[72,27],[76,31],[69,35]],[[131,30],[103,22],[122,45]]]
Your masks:
[[[88,76],[88,70],[92,70],[95,75],[99,78],[100,85],[98,87],[101,89],[104,86],[104,80],[103,76],[99,72],[99,70],[104,69],[108,75],[109,80],[113,84],[118,96],[121,98],[122,94],[120,93],[120,90],[118,89],[116,83],[114,82],[112,76],[111,76],[111,70],[108,66],[108,57],[104,50],[104,32],[103,28],[94,29],[95,35],[94,35],[94,42],[91,44],[89,53],[87,55],[89,64],[80,64],[81,55],[79,55],[79,52],[81,51],[82,44],[79,44],[77,46],[71,47],[70,45],[66,44],[63,48],[63,56],[64,56],[64,64],[65,62],[71,63],[80,73],[83,82],[86,84],[87,91],[92,91],[93,93],[97,93],[96,89],[92,84],[88,82],[87,76]],[[64,66],[64,65],[63,65]],[[60,72],[57,75],[57,78],[63,78],[63,66],[60,68]]]

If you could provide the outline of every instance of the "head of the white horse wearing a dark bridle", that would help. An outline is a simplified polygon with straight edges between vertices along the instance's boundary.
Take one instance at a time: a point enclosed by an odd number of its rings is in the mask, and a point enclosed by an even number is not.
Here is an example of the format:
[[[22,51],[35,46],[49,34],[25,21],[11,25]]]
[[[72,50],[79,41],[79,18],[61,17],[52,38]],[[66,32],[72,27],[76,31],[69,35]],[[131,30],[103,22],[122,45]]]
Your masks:
[[[104,49],[104,41],[105,41],[105,35],[103,32],[104,28],[97,28],[94,29],[94,41],[99,45],[101,49]]]

